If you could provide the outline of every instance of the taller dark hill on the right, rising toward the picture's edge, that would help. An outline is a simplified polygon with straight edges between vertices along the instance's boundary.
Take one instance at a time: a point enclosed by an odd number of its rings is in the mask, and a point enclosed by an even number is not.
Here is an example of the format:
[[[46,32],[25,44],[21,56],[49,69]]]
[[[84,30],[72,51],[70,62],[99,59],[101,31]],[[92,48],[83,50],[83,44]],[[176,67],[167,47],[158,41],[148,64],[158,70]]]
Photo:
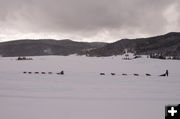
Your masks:
[[[89,50],[88,56],[112,56],[123,54],[128,50],[136,54],[161,53],[163,55],[180,56],[180,33],[171,32],[161,36],[122,39],[117,42],[107,44],[104,47]]]

